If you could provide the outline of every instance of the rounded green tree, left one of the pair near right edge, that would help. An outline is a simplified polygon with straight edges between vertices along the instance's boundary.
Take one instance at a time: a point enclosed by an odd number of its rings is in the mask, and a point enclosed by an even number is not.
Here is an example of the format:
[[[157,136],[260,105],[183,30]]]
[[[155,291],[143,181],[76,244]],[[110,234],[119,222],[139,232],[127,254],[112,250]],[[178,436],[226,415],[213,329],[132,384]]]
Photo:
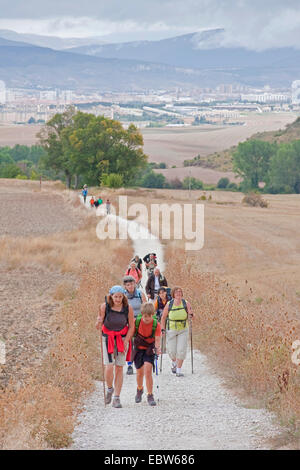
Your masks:
[[[277,145],[261,140],[248,140],[238,145],[233,154],[233,168],[246,184],[258,188],[260,181],[267,182],[271,157]]]

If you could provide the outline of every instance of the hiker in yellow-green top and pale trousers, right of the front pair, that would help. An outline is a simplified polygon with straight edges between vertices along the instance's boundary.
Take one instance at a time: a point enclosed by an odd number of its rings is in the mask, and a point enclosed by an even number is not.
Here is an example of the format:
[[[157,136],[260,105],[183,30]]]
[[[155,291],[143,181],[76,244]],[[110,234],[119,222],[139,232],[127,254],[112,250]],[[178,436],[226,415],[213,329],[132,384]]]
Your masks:
[[[172,360],[172,373],[183,377],[181,372],[188,344],[188,321],[192,321],[191,304],[183,298],[181,287],[174,287],[172,300],[167,303],[161,317],[161,331],[166,334],[167,352]],[[166,328],[167,324],[167,328]]]

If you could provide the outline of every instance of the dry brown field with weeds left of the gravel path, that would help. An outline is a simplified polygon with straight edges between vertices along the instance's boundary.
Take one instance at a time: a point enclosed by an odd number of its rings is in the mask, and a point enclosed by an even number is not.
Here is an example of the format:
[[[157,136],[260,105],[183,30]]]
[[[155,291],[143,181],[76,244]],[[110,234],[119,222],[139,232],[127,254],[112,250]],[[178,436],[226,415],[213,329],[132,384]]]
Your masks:
[[[131,247],[100,242],[97,219],[60,184],[0,183],[0,448],[63,447],[101,375],[95,319]]]

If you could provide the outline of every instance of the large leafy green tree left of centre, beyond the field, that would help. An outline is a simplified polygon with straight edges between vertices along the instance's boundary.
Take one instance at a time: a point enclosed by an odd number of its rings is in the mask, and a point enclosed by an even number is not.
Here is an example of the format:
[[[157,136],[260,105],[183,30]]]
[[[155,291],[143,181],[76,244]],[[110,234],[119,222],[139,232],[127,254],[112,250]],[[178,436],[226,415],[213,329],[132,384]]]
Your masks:
[[[114,173],[128,186],[147,162],[143,137],[134,125],[125,130],[118,121],[72,109],[55,115],[40,141],[48,153],[48,167],[64,171],[68,185],[73,175],[98,184],[103,175]]]

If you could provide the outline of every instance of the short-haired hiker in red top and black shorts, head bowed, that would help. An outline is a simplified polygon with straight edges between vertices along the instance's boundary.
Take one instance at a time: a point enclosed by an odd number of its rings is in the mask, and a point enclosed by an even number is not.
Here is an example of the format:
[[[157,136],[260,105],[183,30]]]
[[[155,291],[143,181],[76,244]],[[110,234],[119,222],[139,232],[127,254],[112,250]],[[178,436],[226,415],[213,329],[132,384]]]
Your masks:
[[[160,354],[161,328],[154,315],[154,306],[147,302],[142,305],[141,315],[135,320],[135,335],[133,339],[132,358],[136,368],[137,391],[135,402],[141,403],[144,393],[144,377],[147,387],[147,401],[155,406],[153,396],[152,370],[154,368],[155,354]]]

